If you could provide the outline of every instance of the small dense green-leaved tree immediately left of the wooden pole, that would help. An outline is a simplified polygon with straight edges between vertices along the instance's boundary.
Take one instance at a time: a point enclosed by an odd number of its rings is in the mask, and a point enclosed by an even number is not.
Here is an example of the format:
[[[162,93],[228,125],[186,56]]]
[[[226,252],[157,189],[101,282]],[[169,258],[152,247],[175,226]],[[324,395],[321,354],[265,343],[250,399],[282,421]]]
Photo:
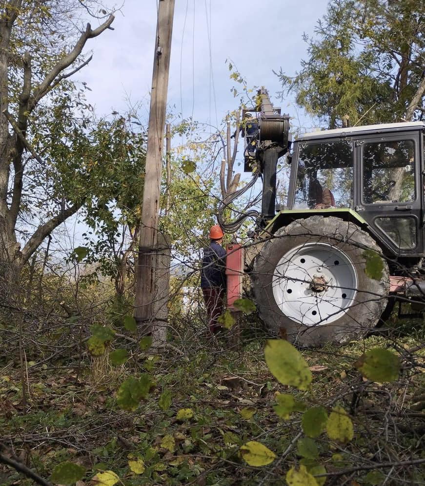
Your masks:
[[[145,133],[133,130],[134,117],[120,116],[97,124],[89,133],[84,150],[89,181],[85,173],[75,177],[78,174],[75,171],[74,187],[72,190],[70,184],[67,187],[68,194],[77,196],[84,184],[91,184],[91,198],[84,205],[84,222],[95,238],[83,235],[90,248],[86,261],[99,263],[101,274],[114,281],[118,297],[127,288],[129,262],[134,261],[141,223]]]

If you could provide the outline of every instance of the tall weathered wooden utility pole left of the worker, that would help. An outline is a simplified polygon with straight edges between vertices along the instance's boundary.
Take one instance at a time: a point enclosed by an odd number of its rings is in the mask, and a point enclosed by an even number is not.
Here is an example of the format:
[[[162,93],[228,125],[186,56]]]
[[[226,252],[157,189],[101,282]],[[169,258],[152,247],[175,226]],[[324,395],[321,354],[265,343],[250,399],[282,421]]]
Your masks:
[[[158,293],[157,278],[159,275],[155,270],[158,253],[162,142],[167,105],[174,2],[175,0],[159,0],[158,2],[134,312],[134,317],[145,334],[151,332],[151,321],[154,317],[153,302]]]

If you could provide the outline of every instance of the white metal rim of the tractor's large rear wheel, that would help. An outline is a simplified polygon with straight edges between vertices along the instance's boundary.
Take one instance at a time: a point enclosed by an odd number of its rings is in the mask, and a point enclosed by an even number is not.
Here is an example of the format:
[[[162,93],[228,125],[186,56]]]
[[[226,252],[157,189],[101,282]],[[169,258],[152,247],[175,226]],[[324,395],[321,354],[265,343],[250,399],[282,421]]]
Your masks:
[[[307,243],[279,260],[272,281],[273,296],[283,314],[307,326],[342,317],[357,294],[357,272],[340,249]]]

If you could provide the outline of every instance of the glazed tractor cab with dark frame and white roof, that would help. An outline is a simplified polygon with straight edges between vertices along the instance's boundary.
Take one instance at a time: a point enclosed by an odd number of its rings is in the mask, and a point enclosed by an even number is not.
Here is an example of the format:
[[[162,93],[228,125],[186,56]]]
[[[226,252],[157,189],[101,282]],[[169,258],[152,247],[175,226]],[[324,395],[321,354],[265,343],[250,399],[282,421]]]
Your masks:
[[[293,148],[287,211],[350,214],[386,253],[424,255],[424,122],[307,133]]]

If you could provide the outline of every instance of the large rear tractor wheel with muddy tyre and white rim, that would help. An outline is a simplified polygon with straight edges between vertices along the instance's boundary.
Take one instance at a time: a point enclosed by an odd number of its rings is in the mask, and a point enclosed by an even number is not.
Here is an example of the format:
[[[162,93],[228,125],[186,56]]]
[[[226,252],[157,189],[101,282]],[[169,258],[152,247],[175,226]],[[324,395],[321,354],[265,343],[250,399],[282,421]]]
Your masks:
[[[365,273],[364,250],[380,249],[356,224],[334,216],[290,223],[256,257],[253,290],[272,332],[303,347],[343,343],[373,328],[388,299],[388,266],[380,280]]]

